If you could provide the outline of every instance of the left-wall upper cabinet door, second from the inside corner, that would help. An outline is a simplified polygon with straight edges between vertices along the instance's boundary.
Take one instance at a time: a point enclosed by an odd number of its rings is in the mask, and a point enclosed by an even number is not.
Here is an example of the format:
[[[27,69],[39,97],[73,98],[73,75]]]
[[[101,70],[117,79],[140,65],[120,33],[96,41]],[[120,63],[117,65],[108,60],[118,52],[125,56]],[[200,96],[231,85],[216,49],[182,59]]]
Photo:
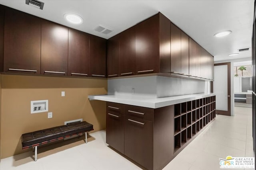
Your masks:
[[[88,76],[89,74],[89,35],[68,29],[68,75]]]

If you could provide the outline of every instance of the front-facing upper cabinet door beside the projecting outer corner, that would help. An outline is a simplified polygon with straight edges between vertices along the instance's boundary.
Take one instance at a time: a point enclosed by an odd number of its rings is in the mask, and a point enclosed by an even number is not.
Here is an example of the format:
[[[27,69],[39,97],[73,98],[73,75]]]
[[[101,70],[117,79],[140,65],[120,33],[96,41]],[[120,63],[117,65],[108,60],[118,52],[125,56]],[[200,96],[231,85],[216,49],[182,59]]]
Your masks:
[[[159,15],[136,25],[136,74],[159,72]]]

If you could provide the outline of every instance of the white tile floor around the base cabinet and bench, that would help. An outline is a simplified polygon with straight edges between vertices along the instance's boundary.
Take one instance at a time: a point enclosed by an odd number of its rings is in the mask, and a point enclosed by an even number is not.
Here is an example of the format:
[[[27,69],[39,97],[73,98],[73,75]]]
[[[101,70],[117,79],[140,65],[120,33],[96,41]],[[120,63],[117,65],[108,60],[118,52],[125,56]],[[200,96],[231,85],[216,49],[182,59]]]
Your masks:
[[[228,155],[253,157],[251,110],[248,107],[236,107],[234,117],[217,115],[216,120],[164,170],[218,170],[219,158]],[[105,131],[90,135],[92,137],[87,144],[80,140],[54,149],[39,147],[37,162],[34,162],[31,151],[2,159],[0,170],[140,169],[107,147]]]

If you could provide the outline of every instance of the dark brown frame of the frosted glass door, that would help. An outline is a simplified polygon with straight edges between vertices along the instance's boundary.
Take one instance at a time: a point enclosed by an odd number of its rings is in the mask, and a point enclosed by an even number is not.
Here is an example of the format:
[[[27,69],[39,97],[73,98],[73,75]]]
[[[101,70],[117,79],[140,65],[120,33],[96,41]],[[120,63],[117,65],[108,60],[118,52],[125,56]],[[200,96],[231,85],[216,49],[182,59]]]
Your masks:
[[[228,66],[228,111],[216,110],[216,114],[231,116],[231,63],[217,63],[214,66],[227,65]],[[211,92],[213,92],[213,82],[211,82]]]

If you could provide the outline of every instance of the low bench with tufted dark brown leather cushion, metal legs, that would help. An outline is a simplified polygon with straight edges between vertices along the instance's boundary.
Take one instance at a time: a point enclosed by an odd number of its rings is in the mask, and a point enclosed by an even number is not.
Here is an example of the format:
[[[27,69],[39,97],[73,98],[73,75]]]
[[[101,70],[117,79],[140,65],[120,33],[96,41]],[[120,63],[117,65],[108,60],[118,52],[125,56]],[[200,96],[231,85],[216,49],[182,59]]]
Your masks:
[[[37,146],[50,143],[56,140],[65,139],[72,135],[78,135],[80,133],[85,133],[86,143],[87,143],[87,133],[92,131],[93,125],[86,122],[76,122],[70,123],[68,125],[62,125],[57,127],[52,127],[48,129],[43,129],[40,131],[34,131],[30,133],[22,134],[22,149],[35,148],[35,161],[37,160]]]

